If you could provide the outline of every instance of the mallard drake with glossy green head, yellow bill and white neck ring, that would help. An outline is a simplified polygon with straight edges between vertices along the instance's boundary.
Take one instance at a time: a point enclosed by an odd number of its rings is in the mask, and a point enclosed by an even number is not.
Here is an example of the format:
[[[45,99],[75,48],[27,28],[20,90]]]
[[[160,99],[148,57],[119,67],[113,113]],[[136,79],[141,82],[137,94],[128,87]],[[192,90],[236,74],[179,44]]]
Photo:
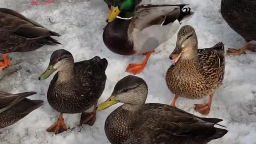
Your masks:
[[[187,4],[139,5],[135,8],[134,0],[114,2],[103,41],[116,54],[146,54],[142,64],[129,64],[126,68],[132,74],[143,70],[154,48],[173,36],[180,26],[178,20],[190,14],[190,8],[184,8]]]

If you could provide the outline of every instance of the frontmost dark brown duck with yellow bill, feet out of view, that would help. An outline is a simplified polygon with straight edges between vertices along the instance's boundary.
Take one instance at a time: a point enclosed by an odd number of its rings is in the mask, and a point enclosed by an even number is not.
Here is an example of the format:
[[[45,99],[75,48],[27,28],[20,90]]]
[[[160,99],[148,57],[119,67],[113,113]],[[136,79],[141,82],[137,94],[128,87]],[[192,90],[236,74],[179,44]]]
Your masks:
[[[206,144],[228,131],[215,128],[222,121],[200,118],[166,104],[145,104],[146,82],[136,76],[120,80],[108,100],[97,110],[124,103],[106,119],[105,133],[111,144]]]

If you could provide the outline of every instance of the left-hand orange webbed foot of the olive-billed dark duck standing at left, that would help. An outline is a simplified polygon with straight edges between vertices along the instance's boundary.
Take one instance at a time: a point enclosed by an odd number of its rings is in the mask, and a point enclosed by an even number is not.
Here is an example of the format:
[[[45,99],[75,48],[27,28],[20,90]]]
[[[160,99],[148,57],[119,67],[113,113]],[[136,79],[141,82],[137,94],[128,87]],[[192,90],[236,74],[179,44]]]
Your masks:
[[[47,128],[47,132],[54,132],[55,134],[59,134],[61,132],[66,131],[66,124],[64,122],[64,118],[62,117],[62,112],[60,113],[60,116],[58,117],[57,122],[55,122],[50,128]]]

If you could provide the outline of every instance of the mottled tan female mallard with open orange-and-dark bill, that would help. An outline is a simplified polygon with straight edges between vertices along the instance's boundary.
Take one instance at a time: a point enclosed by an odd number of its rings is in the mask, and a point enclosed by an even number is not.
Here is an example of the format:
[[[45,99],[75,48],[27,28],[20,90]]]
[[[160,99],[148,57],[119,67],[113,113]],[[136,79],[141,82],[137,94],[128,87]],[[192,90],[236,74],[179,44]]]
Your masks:
[[[210,95],[207,104],[196,104],[195,110],[208,114],[212,96],[224,78],[224,46],[222,42],[212,48],[197,49],[196,32],[192,26],[183,26],[178,32],[176,48],[170,55],[174,64],[166,72],[166,83],[175,94],[172,106],[178,96],[201,99]]]

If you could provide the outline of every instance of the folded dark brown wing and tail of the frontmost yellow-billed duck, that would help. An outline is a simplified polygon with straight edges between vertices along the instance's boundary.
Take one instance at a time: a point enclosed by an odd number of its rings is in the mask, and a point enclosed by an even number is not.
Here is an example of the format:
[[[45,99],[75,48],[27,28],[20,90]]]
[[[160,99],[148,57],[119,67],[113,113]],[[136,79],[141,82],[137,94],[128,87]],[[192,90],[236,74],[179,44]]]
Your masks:
[[[142,123],[125,144],[201,144],[228,132],[214,127],[221,119],[200,118],[165,104],[146,104],[142,111]]]

